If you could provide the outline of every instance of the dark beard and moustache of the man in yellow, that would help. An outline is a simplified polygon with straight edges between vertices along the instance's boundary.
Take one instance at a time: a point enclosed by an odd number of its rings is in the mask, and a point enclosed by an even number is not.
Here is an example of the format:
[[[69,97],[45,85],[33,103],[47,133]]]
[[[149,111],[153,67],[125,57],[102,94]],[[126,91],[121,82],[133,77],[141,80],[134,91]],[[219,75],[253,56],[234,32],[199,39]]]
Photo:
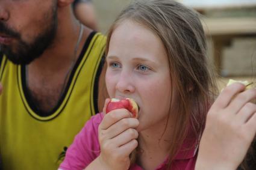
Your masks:
[[[47,17],[47,16],[46,16]],[[49,16],[48,16],[49,17]],[[57,5],[52,8],[52,14],[50,16],[50,22],[46,26],[45,30],[40,32],[35,38],[33,43],[27,43],[23,41],[20,34],[16,31],[11,30],[0,21],[0,32],[11,38],[16,38],[18,44],[15,50],[11,49],[10,46],[0,44],[0,51],[3,52],[10,61],[14,64],[29,64],[47,49],[55,38],[57,32]],[[48,20],[49,20],[48,19]],[[46,22],[45,22],[46,23]]]

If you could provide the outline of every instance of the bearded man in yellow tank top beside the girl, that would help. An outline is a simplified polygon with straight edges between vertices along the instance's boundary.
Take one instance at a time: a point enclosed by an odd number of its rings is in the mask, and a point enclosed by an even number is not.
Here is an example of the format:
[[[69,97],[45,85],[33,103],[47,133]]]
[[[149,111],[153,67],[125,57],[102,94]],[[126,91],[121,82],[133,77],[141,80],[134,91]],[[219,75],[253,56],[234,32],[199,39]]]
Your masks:
[[[4,170],[57,169],[104,103],[105,37],[75,19],[72,2],[0,1]]]

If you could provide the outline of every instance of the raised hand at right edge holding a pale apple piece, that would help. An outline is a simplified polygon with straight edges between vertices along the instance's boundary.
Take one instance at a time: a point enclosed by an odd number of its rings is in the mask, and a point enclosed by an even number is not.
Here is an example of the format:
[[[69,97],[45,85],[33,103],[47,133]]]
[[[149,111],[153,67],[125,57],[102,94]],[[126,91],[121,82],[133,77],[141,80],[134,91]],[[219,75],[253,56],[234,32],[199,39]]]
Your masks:
[[[236,169],[246,156],[256,132],[256,90],[244,90],[242,83],[229,85],[211,106],[196,170]]]

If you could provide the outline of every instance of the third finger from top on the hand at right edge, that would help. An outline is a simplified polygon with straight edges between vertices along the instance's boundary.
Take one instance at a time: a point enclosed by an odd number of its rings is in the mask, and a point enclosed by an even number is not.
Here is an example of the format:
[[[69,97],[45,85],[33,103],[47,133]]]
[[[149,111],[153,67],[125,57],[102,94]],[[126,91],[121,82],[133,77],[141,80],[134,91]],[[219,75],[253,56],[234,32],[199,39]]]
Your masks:
[[[246,123],[249,118],[256,112],[256,105],[254,103],[246,103],[245,106],[237,113],[236,119],[240,123]]]

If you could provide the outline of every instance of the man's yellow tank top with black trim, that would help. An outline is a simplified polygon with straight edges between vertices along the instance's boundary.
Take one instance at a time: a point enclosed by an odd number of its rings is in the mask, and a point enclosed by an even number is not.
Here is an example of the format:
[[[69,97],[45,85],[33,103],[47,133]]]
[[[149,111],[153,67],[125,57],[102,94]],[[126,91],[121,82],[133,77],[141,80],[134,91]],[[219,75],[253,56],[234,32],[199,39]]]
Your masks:
[[[42,117],[27,96],[24,65],[1,58],[0,157],[2,169],[57,169],[64,147],[98,112],[98,78],[105,37],[93,32],[71,73],[66,91],[51,115]]]

